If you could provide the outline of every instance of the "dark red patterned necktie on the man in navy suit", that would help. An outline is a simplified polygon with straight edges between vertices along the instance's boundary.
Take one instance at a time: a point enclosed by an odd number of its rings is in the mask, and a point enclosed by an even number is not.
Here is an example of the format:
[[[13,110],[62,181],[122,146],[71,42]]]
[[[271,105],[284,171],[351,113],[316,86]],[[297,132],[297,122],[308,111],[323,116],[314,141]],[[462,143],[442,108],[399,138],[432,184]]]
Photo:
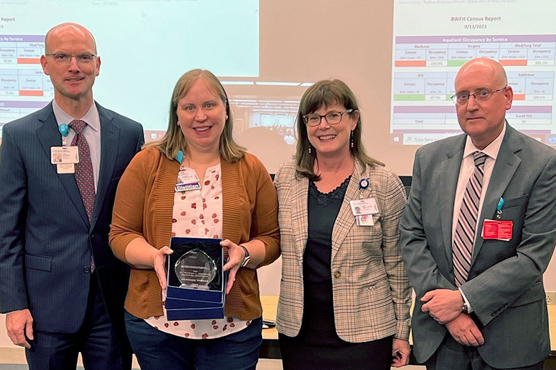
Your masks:
[[[79,163],[75,165],[75,180],[77,187],[79,187],[79,193],[81,193],[81,199],[83,199],[83,205],[85,205],[85,212],[87,212],[87,217],[90,222],[92,219],[92,211],[95,209],[96,194],[95,180],[92,177],[91,152],[87,139],[85,139],[83,135],[83,129],[87,126],[87,122],[81,121],[81,119],[74,119],[68,126],[75,132],[72,146],[77,146],[79,149]],[[95,271],[95,260],[91,253],[91,273],[92,271]]]

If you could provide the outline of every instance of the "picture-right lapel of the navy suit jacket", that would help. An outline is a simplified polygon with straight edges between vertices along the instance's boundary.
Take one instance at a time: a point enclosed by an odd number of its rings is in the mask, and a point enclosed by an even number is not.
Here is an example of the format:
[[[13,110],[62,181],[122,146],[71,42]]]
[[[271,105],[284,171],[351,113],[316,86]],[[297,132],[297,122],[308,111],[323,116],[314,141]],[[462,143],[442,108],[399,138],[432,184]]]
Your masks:
[[[96,103],[96,102],[95,102]],[[97,180],[97,196],[95,197],[95,209],[92,213],[91,227],[95,225],[99,212],[101,211],[106,191],[116,162],[118,153],[118,142],[120,142],[120,128],[113,122],[113,115],[97,104],[100,121],[100,169]]]

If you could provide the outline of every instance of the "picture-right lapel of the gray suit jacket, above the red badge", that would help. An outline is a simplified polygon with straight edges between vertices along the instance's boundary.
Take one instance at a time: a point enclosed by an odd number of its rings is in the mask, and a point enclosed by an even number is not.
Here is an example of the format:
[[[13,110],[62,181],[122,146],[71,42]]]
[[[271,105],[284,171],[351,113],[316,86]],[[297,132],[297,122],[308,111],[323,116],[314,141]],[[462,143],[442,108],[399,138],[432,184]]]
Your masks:
[[[512,180],[521,163],[521,159],[515,155],[515,153],[521,151],[521,141],[516,137],[515,133],[514,128],[506,125],[506,135],[502,140],[498,157],[496,157],[496,162],[492,169],[489,187],[484,194],[479,225],[477,227],[477,237],[475,238],[475,246],[473,247],[473,256],[471,258],[472,267],[484,242],[481,237],[483,221],[484,219],[493,219],[496,205],[498,205],[500,197],[504,194],[509,181]]]

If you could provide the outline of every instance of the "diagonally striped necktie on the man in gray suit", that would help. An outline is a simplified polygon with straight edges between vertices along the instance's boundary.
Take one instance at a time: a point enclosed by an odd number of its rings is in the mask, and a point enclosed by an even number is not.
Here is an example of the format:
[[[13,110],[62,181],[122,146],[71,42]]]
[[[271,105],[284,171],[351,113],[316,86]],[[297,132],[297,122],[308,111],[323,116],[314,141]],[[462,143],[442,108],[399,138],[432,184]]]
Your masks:
[[[471,255],[473,255],[473,241],[475,240],[475,227],[477,226],[486,157],[488,155],[480,151],[473,153],[475,170],[465,188],[464,199],[461,202],[461,208],[457,217],[454,246],[452,248],[452,262],[454,263],[454,276],[458,287],[461,287],[467,281],[469,268],[471,267]]]

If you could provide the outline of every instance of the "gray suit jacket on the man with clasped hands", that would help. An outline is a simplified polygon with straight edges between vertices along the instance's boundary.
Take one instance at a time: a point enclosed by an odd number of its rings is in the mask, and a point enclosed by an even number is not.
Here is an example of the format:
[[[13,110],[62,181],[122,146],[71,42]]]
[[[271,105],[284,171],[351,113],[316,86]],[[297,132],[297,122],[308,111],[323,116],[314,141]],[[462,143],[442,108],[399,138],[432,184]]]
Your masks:
[[[466,135],[418,149],[413,183],[400,222],[402,255],[416,292],[414,352],[424,362],[447,330],[421,312],[419,298],[457,289],[452,270],[452,214]],[[503,197],[503,220],[512,220],[509,242],[480,237]],[[542,274],[556,244],[556,151],[507,125],[486,190],[469,280],[461,286],[484,336],[478,348],[492,367],[525,367],[550,351]]]

